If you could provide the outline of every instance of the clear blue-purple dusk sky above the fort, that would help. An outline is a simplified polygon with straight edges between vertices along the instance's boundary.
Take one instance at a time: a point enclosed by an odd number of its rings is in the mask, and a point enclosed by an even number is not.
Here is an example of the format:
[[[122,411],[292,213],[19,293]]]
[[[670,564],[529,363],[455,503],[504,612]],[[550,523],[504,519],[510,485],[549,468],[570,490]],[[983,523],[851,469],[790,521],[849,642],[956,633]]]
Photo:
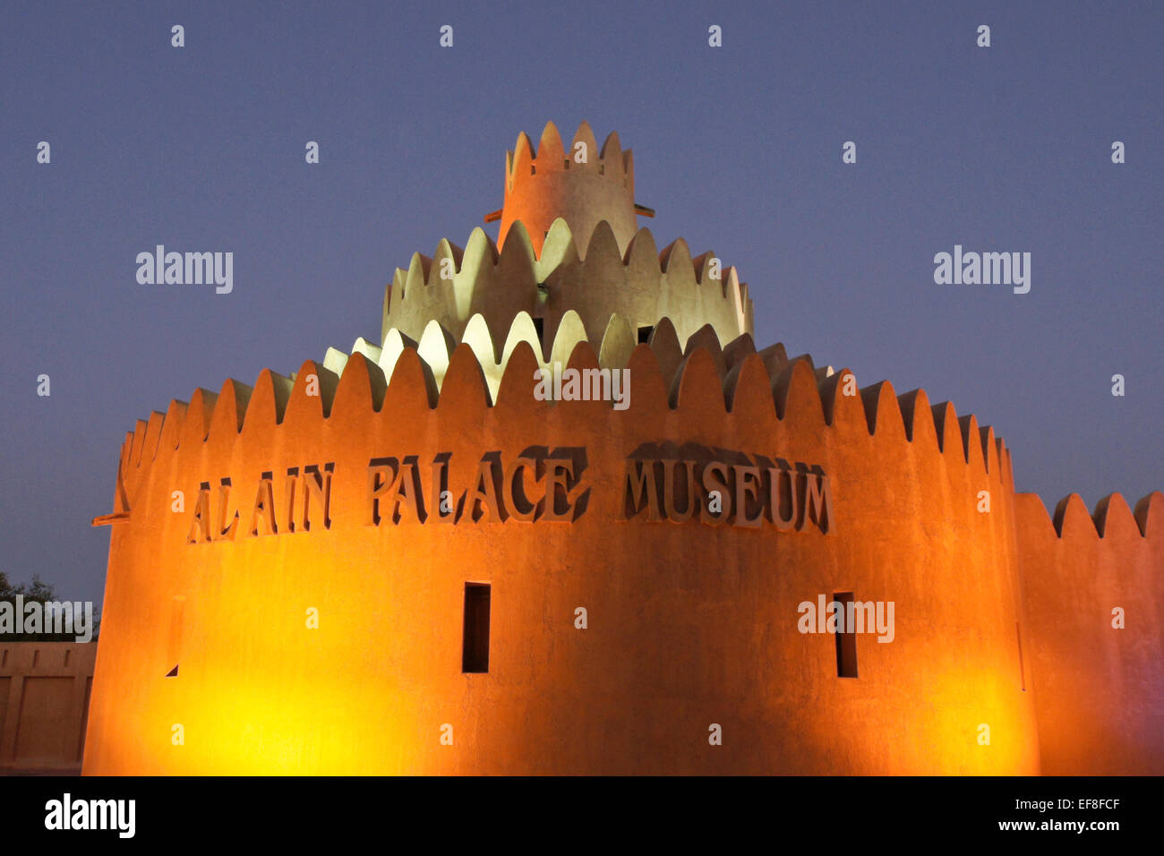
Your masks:
[[[1162,37],[1159,2],[6,3],[0,570],[99,601],[135,420],[378,341],[392,269],[464,246],[547,120],[619,133],[758,346],[975,413],[1052,509],[1134,504],[1164,489]],[[233,252],[233,292],[139,284],[158,243]],[[1030,253],[1029,293],[936,284],[954,245]]]

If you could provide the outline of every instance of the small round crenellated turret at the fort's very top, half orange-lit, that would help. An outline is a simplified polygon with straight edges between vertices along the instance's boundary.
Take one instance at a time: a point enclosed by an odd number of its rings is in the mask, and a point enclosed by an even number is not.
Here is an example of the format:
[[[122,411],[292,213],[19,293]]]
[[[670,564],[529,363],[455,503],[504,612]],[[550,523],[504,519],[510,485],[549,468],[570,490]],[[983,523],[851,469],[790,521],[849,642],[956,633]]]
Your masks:
[[[501,210],[497,246],[520,220],[540,255],[549,226],[562,218],[585,253],[595,227],[605,220],[618,248],[626,252],[638,229],[634,217],[634,169],[631,151],[623,151],[611,133],[598,149],[594,132],[582,122],[567,151],[553,122],[541,132],[534,151],[523,132],[505,157],[505,205]]]

